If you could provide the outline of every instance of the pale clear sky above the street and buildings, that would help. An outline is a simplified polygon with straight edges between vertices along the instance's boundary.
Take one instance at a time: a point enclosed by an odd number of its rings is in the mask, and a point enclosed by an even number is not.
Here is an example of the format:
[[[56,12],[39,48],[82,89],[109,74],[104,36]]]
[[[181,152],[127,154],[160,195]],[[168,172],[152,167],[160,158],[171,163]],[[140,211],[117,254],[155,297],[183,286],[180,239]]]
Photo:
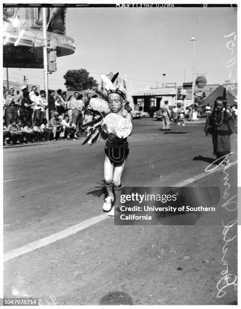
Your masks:
[[[236,44],[232,55],[228,48],[236,14],[236,8],[69,8],[66,35],[74,38],[76,50],[57,59],[49,88],[64,90],[63,75],[81,68],[99,83],[100,74],[126,73],[133,88],[191,82],[194,35],[194,72],[206,73],[208,84],[237,82],[236,59],[229,62],[237,56]],[[43,88],[42,69],[9,69],[9,80],[22,81],[23,75]]]

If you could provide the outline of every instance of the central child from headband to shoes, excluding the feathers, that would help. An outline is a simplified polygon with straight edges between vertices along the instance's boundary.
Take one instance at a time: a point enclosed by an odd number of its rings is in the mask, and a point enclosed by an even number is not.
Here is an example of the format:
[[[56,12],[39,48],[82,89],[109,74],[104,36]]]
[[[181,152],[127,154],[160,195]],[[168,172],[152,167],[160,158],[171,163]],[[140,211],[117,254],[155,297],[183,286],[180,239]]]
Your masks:
[[[131,133],[132,125],[131,114],[124,110],[125,94],[120,90],[109,90],[107,99],[112,113],[105,117],[102,132],[102,138],[107,139],[103,184],[108,194],[103,204],[103,210],[109,211],[109,216],[114,216],[113,201],[116,198],[115,205],[117,205],[121,194],[120,190],[123,186],[121,175],[129,154],[127,136]]]

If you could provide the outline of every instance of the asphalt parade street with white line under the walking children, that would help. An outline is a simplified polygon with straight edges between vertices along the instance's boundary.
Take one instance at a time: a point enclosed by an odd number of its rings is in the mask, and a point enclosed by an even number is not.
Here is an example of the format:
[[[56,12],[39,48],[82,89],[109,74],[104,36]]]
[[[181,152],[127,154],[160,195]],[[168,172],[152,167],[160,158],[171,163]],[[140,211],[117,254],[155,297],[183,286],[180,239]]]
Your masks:
[[[237,134],[226,171],[205,172],[215,158],[205,118],[170,131],[153,118],[132,123],[124,186],[223,192],[228,173],[228,198],[235,196]],[[224,257],[222,249],[223,229],[236,217],[222,207],[223,194],[212,219],[204,213],[194,225],[178,225],[185,215],[173,216],[175,225],[170,217],[159,225],[114,225],[102,210],[105,141],[81,145],[82,136],[3,150],[4,297],[43,305],[235,304],[236,225]],[[229,286],[226,268],[233,274]]]

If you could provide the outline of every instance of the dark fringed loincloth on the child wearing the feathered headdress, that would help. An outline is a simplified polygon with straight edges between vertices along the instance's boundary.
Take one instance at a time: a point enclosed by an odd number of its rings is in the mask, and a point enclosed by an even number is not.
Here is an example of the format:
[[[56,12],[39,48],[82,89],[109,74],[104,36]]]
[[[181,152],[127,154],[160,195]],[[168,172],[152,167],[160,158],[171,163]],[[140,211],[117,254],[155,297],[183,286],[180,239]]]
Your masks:
[[[113,144],[106,142],[105,153],[114,167],[122,166],[129,155],[129,144]]]

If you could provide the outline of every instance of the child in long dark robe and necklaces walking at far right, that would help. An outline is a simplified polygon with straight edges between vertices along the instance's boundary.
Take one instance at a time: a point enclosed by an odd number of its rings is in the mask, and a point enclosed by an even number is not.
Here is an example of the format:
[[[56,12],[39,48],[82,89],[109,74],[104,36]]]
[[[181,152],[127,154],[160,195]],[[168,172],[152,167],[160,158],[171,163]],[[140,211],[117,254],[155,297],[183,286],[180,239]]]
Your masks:
[[[224,156],[231,152],[230,135],[235,133],[235,125],[231,115],[226,110],[226,88],[223,96],[218,96],[214,102],[213,112],[207,117],[204,131],[206,136],[212,135],[213,154],[220,158],[217,164],[226,165]]]

